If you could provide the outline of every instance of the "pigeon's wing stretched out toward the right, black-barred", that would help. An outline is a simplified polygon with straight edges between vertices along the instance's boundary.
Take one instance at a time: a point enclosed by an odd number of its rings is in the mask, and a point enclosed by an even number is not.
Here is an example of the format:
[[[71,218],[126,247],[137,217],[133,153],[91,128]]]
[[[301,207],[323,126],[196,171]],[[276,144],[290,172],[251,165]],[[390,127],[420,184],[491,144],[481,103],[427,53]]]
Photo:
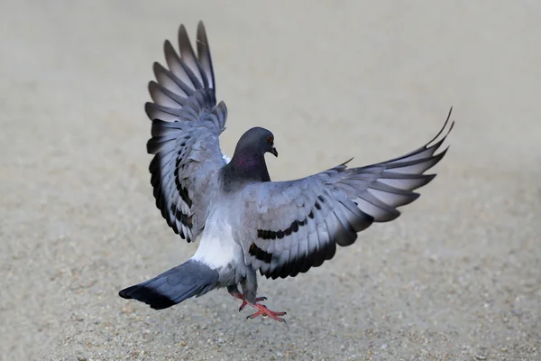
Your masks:
[[[245,263],[267,278],[294,277],[333,258],[336,244],[352,245],[373,222],[398,218],[397,208],[419,197],[413,190],[436,177],[423,173],[445,155],[435,153],[453,127],[438,140],[449,116],[432,141],[399,158],[247,187],[234,234]]]

